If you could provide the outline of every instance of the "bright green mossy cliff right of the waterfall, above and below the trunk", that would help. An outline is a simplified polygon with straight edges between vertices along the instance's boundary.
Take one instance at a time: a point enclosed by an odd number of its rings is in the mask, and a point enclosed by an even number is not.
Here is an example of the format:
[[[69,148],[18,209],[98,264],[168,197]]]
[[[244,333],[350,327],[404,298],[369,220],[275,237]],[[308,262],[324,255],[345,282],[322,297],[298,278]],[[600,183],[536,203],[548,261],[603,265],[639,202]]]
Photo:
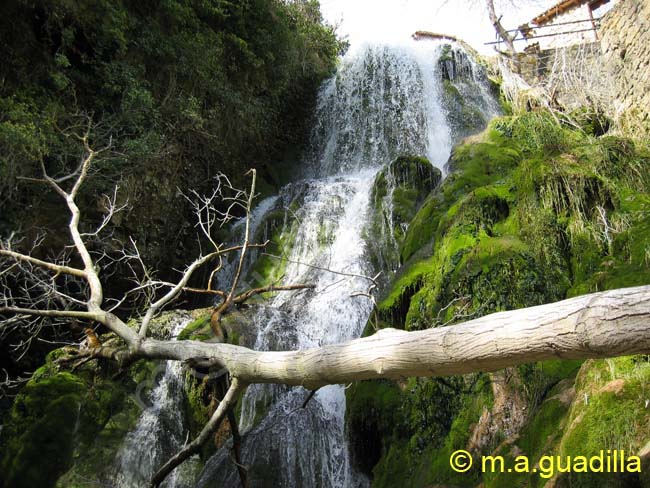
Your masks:
[[[544,111],[494,119],[457,146],[450,174],[400,241],[405,263],[373,327],[417,330],[492,312],[650,281],[650,153],[626,138],[594,137]],[[543,486],[538,474],[482,476],[449,467],[475,455],[647,458],[645,356],[531,363],[492,374],[348,390],[359,466],[373,486]],[[647,463],[647,459],[645,461]],[[647,469],[647,468],[646,468]],[[554,486],[622,486],[643,476],[553,475]],[[630,477],[631,476],[631,477]],[[646,486],[646,485],[638,485]]]

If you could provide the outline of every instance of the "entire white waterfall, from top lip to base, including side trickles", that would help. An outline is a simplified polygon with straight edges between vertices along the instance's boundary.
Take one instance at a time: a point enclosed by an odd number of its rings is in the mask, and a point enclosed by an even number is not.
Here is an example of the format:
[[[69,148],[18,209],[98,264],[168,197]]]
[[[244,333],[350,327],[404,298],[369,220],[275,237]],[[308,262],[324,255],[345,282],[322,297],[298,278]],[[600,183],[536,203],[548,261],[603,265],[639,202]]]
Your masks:
[[[257,227],[267,212],[291,209],[283,283],[316,288],[278,293],[260,308],[256,349],[307,349],[360,336],[372,308],[362,294],[370,286],[363,276],[376,272],[364,241],[375,175],[401,154],[423,155],[443,170],[458,135],[444,104],[443,71],[486,119],[497,111],[482,70],[461,48],[453,47],[452,57],[449,52],[432,41],[366,45],[348,53],[324,83],[305,178],[265,200],[254,216]],[[308,395],[300,387],[248,388],[240,430],[249,485],[367,486],[349,456],[344,385],[321,388],[302,408]],[[207,461],[195,484],[238,485],[227,446]],[[177,479],[168,486],[184,485]]]

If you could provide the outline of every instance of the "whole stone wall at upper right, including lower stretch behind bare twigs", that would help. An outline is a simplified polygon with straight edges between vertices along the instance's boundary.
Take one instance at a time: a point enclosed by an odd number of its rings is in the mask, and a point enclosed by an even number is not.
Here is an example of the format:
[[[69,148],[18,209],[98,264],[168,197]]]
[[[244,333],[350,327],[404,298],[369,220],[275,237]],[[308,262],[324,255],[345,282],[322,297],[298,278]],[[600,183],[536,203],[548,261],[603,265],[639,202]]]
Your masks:
[[[599,42],[518,55],[521,75],[571,110],[594,106],[614,128],[650,137],[650,0],[619,0],[601,18]]]

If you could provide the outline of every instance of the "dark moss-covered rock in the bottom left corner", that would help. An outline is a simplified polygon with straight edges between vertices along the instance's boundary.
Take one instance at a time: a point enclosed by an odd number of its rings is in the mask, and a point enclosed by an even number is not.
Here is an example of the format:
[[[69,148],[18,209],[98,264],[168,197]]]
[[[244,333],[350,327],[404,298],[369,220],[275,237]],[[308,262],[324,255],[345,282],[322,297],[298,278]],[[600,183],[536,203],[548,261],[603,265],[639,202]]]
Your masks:
[[[56,356],[48,356],[5,418],[2,486],[75,487],[103,479],[111,465],[107,459],[140,414],[130,396],[136,387],[131,375],[110,380],[110,371],[92,364],[67,372]],[[132,367],[133,376],[141,363]]]

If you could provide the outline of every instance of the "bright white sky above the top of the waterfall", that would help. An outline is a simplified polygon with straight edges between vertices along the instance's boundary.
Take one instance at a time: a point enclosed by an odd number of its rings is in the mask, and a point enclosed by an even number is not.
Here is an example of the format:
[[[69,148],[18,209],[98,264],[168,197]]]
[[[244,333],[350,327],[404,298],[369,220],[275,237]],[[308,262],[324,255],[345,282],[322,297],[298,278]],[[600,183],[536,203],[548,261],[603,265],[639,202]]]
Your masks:
[[[502,23],[514,29],[558,0],[496,0]],[[451,34],[484,54],[493,52],[484,42],[495,40],[483,0],[320,0],[325,18],[340,25],[354,45],[360,41],[399,41],[417,30]],[[513,4],[517,5],[516,7]]]

